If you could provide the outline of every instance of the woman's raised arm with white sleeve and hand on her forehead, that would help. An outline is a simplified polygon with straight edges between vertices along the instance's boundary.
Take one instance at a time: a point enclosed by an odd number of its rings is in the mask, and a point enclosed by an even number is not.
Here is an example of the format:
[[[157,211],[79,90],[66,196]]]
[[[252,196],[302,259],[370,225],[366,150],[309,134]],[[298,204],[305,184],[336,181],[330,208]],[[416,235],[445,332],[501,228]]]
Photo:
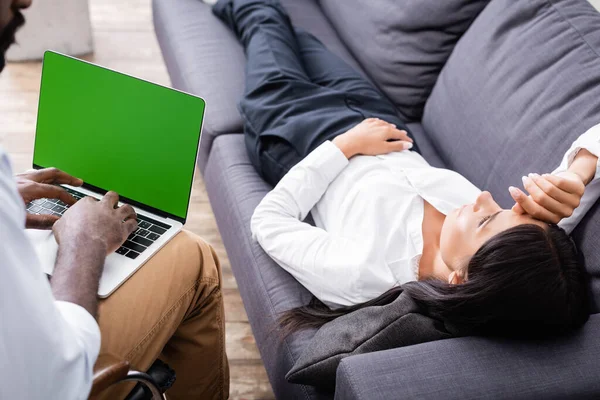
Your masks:
[[[581,135],[565,153],[552,174],[523,177],[529,196],[519,189],[509,190],[517,202],[513,211],[537,219],[559,223],[571,232],[600,197],[600,124]]]

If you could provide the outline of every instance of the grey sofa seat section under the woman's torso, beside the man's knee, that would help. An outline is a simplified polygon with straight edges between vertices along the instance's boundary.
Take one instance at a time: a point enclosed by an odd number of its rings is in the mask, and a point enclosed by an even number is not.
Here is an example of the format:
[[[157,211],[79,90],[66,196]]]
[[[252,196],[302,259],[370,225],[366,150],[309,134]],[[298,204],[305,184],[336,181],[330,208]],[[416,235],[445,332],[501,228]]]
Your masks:
[[[250,163],[243,135],[221,135],[215,139],[204,179],[275,395],[281,399],[330,398],[318,394],[314,388],[292,385],[285,380],[285,374],[315,331],[300,332],[282,340],[276,321],[281,312],[308,304],[312,295],[252,239],[250,218],[271,187]]]

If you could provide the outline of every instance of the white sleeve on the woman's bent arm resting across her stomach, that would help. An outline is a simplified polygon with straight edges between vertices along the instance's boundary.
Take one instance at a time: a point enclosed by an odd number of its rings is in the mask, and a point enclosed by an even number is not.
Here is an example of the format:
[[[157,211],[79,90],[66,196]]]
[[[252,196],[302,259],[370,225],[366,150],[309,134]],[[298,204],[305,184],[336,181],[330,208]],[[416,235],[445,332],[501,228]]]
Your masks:
[[[326,304],[356,302],[363,245],[302,222],[348,159],[327,141],[294,166],[258,205],[253,237],[277,264]]]

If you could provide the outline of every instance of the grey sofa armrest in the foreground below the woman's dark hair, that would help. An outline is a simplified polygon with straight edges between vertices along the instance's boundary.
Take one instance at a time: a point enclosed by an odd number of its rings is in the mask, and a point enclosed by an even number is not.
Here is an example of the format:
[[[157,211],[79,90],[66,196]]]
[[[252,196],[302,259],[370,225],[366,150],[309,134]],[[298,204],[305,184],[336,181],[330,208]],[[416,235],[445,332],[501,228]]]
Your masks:
[[[465,337],[348,357],[336,399],[599,399],[600,314],[569,337]]]

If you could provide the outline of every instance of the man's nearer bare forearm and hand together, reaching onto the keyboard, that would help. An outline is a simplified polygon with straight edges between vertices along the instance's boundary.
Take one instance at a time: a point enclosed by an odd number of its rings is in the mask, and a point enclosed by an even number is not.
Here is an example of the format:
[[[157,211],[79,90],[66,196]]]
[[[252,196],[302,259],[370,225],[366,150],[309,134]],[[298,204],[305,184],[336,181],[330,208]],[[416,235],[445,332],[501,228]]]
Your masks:
[[[58,243],[50,283],[54,298],[79,304],[94,316],[104,260],[137,229],[133,207],[118,207],[118,202],[115,192],[108,192],[100,201],[83,198],[52,228]]]

